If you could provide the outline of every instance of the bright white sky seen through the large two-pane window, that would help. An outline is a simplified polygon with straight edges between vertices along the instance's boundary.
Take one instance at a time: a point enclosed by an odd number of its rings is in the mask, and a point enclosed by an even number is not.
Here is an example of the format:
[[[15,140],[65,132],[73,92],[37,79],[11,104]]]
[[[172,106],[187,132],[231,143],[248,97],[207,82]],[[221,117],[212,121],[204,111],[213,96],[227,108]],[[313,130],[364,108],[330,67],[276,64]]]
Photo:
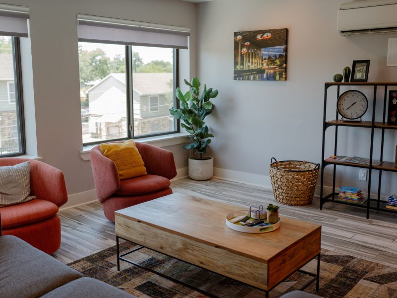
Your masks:
[[[125,55],[125,48],[123,45],[110,45],[110,44],[97,44],[91,42],[79,42],[83,50],[92,51],[97,48],[101,48],[105,51],[106,56],[113,59],[116,55]],[[140,47],[132,46],[132,51],[138,52],[139,57],[142,58],[143,63],[149,63],[153,60],[163,60],[173,62],[173,51],[167,48],[153,48],[153,47]]]

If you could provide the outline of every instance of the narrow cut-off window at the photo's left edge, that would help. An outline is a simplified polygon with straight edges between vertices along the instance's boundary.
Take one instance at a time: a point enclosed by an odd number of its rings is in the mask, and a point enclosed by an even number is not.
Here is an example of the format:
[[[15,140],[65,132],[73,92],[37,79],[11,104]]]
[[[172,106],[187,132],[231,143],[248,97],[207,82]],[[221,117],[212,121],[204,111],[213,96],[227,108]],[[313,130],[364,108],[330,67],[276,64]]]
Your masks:
[[[25,153],[19,38],[0,36],[0,156]]]

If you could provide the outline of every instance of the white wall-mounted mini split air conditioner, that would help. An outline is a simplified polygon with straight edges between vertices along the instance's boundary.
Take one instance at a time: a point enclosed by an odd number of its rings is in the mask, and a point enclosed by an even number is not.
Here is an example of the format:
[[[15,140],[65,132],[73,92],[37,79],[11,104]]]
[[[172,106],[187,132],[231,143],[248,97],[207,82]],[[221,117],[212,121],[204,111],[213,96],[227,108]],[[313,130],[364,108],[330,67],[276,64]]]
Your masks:
[[[397,33],[397,0],[362,0],[342,3],[338,11],[342,36]]]

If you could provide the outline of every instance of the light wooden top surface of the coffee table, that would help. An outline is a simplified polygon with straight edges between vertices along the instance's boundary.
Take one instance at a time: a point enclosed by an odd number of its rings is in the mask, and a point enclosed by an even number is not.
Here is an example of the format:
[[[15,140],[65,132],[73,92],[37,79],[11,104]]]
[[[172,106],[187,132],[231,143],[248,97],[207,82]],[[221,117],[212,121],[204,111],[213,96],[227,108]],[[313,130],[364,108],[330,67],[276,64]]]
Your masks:
[[[269,233],[243,233],[226,226],[228,213],[243,207],[174,193],[116,211],[121,217],[220,247],[259,261],[269,261],[313,233],[321,225],[282,216],[280,228]]]

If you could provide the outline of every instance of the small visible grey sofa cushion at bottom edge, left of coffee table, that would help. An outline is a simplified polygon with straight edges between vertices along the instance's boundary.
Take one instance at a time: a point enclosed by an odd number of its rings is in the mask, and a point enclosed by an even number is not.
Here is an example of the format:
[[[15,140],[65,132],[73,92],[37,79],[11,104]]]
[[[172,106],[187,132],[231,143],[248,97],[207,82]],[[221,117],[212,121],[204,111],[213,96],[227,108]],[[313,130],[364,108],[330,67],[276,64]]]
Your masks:
[[[93,278],[83,277],[74,280],[58,289],[47,293],[42,298],[81,298],[81,297],[95,297],[95,298],[135,298],[116,287],[105,284]]]

